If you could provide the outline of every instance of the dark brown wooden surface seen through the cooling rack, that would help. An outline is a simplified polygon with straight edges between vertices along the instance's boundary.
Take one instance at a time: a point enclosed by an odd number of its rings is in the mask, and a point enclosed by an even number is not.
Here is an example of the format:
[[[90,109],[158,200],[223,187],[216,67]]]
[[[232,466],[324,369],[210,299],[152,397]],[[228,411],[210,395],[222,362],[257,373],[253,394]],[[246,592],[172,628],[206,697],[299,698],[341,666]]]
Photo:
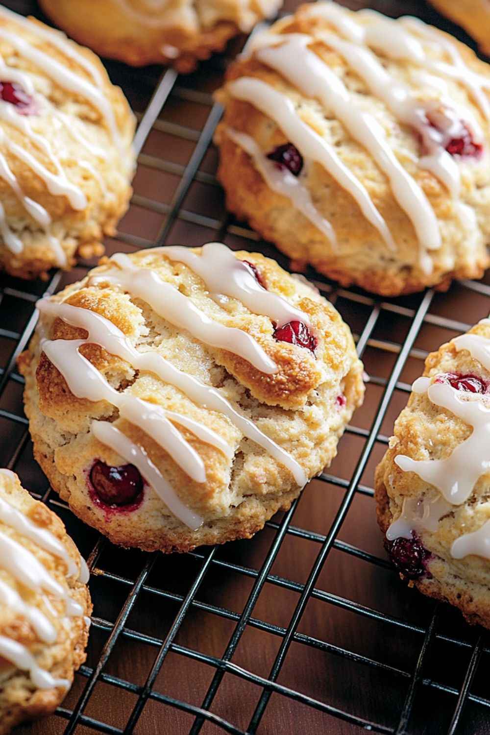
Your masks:
[[[42,18],[34,2],[12,0],[4,4]],[[444,21],[423,1],[373,0],[345,4],[354,8],[372,7],[392,16],[417,15],[471,43],[461,29]],[[294,10],[294,7],[294,3],[288,2],[287,10]],[[239,46],[234,44],[228,57],[238,49]],[[140,157],[134,180],[134,203],[120,224],[120,232],[129,236],[129,239],[133,236],[153,240],[158,234],[165,218],[165,205],[170,203],[179,184],[182,167],[189,161],[206,123],[211,110],[208,95],[220,85],[225,61],[223,57],[215,58],[203,64],[192,76],[177,82],[176,90],[159,116],[158,129],[149,135],[143,156]],[[112,80],[123,87],[134,109],[143,112],[161,70],[147,68],[137,71],[115,62],[109,62],[107,66]],[[199,94],[196,95],[196,91]],[[176,130],[176,125],[184,126],[184,133]],[[167,164],[155,167],[154,157]],[[201,175],[192,183],[184,200],[181,217],[173,224],[168,243],[201,245],[217,237],[214,223],[222,221],[225,214],[223,194],[206,176],[215,173],[215,168],[216,152],[210,148],[201,164]],[[148,209],[145,207],[145,198],[161,206]],[[195,218],[190,213],[200,216]],[[226,243],[232,247],[261,249],[287,265],[284,257],[271,245],[254,243],[249,238],[240,237],[239,233],[237,228],[232,229],[231,233],[227,232]],[[124,240],[109,240],[107,247],[109,253],[134,249],[128,237]],[[63,276],[62,285],[82,275],[84,268],[76,268]],[[40,295],[43,285],[28,284],[26,287],[25,284],[5,278],[2,285],[10,290],[7,290],[1,303],[1,324],[21,332],[32,314],[32,301],[16,298],[15,288]],[[361,292],[356,294],[355,298],[351,298],[342,290],[334,290],[331,297],[353,331],[359,334],[370,318],[373,301],[369,295]],[[394,302],[406,307],[405,312],[403,309],[401,312],[381,309],[372,340],[364,353],[367,373],[376,379],[389,376],[396,359],[397,345],[403,341],[411,325],[410,309],[417,306],[419,298],[415,296]],[[437,348],[457,333],[439,326],[440,317],[472,324],[488,315],[489,307],[490,301],[485,294],[475,293],[461,284],[454,284],[447,294],[436,295],[430,306],[430,319],[422,326],[401,380],[410,383],[419,376],[421,359],[427,351]],[[7,365],[14,348],[14,340],[1,338],[1,367]],[[328,470],[332,475],[349,480],[364,446],[363,431],[371,426],[382,390],[376,380],[368,384],[365,404],[353,418],[353,426],[361,431],[343,437],[339,454]],[[406,393],[395,390],[383,421],[383,435],[391,434],[394,418],[405,403]],[[23,415],[21,384],[15,379],[8,383],[1,397],[0,409],[0,464],[6,465],[15,455],[15,470],[25,487],[45,497],[48,483],[32,459],[31,445],[26,440],[26,426],[21,420],[12,421],[8,415],[8,412]],[[368,488],[372,487],[372,473],[384,448],[381,437],[381,441],[376,442],[361,480]],[[344,492],[345,488],[338,484],[311,482],[298,503],[292,526],[308,529],[321,537],[328,531]],[[47,502],[60,513],[68,531],[87,556],[97,542],[96,532],[83,526],[67,509],[57,505],[54,492],[49,492]],[[274,520],[279,522],[281,515]],[[217,550],[198,589],[195,597],[197,603],[190,607],[176,636],[175,643],[178,646],[217,658],[223,655],[236,625],[235,614],[242,611],[253,585],[253,571],[250,570],[260,569],[274,537],[275,528],[269,527],[251,541],[231,543]],[[386,558],[381,534],[375,523],[374,501],[370,495],[356,494],[339,533],[339,540],[374,553],[381,559]],[[273,564],[272,577],[264,584],[253,609],[252,624],[245,629],[234,654],[235,664],[267,677],[281,643],[278,632],[289,624],[298,602],[300,586],[306,581],[319,548],[316,537],[304,539],[294,533],[286,535]],[[141,592],[126,622],[126,632],[118,638],[109,657],[104,670],[107,675],[128,681],[134,687],[145,684],[158,653],[155,644],[165,638],[179,611],[180,600],[187,595],[207,553],[207,550],[201,550],[186,556],[156,555],[146,584],[164,594],[145,590]],[[143,553],[124,551],[107,542],[102,544],[97,567],[98,570],[104,570],[104,574],[93,574],[90,590],[94,616],[107,621],[108,625],[105,629],[100,625],[93,627],[87,666],[97,664],[110,627],[117,620],[131,589],[131,582],[137,579],[147,559],[148,556]],[[222,562],[228,564],[223,565]],[[278,678],[279,683],[356,717],[374,720],[386,728],[396,728],[424,639],[423,631],[431,620],[434,603],[404,587],[393,570],[358,559],[337,548],[329,554],[316,588],[318,593],[306,606],[298,628],[300,636],[292,643]],[[224,612],[216,614],[216,610]],[[374,616],[370,611],[376,611],[378,615]],[[270,625],[264,626],[261,621]],[[278,626],[278,629],[272,628],[271,632],[271,625]],[[127,631],[144,634],[148,637],[148,643],[135,642]],[[469,646],[457,645],[452,639],[472,645],[480,632],[465,625],[461,616],[448,606],[439,606],[436,635],[425,659],[423,681],[417,689],[407,732],[426,735],[447,732],[456,704],[454,692],[461,687],[471,655]],[[301,642],[301,635],[324,642],[323,650]],[[363,657],[374,659],[380,665],[372,667],[363,662]],[[460,735],[490,734],[490,710],[478,703],[478,696],[489,696],[488,667],[489,655],[483,653],[471,688],[476,700],[466,704],[458,728]],[[213,667],[183,656],[178,650],[170,650],[154,689],[200,706],[214,673]],[[76,676],[73,689],[65,700],[65,708],[72,709],[75,706],[86,681],[84,675]],[[448,687],[453,688],[453,693],[444,691]],[[261,693],[262,689],[255,684],[227,673],[211,710],[245,731]],[[137,696],[133,692],[125,691],[114,683],[99,682],[85,714],[105,723],[105,731],[109,733],[114,732],[111,728],[122,730],[136,701]],[[192,722],[192,715],[149,700],[134,733],[180,735],[190,731]],[[19,728],[17,732],[18,735],[58,735],[63,733],[65,726],[65,717],[57,714],[43,722]],[[206,723],[202,732],[212,735],[223,730]],[[273,694],[258,732],[260,735],[355,735],[361,733],[361,728],[311,709],[292,698]],[[76,729],[77,735],[88,733],[93,733],[93,729],[84,725]]]

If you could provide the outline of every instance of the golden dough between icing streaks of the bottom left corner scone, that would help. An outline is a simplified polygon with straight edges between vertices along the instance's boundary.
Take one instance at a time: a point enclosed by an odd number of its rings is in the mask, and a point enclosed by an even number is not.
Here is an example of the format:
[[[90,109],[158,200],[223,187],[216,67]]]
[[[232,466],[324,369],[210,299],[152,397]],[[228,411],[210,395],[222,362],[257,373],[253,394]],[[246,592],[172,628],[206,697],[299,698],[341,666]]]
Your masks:
[[[73,541],[68,537],[61,520],[44,503],[35,501],[21,487],[18,477],[13,473],[0,473],[0,502],[8,503],[10,508],[20,512],[35,528],[43,534],[52,534],[61,542],[74,568],[80,570],[80,555]],[[65,601],[46,592],[45,589],[30,589],[19,582],[7,570],[1,559],[0,589],[10,589],[11,594],[21,600],[31,611],[43,615],[53,628],[54,642],[45,642],[37,634],[37,618],[19,612],[16,605],[9,602],[9,596],[2,592],[0,598],[0,640],[8,639],[15,645],[24,646],[31,654],[37,667],[51,675],[54,680],[73,681],[73,673],[85,660],[85,647],[88,638],[88,625],[92,612],[90,595],[85,584],[77,581],[77,576],[68,577],[65,560],[41,548],[32,538],[20,533],[12,526],[0,521],[0,534],[9,541],[18,543],[35,558],[46,570],[50,578],[60,585],[73,603],[77,603],[82,615],[65,615]],[[34,621],[34,622],[33,622]],[[36,717],[51,714],[62,702],[66,686],[41,688],[32,681],[28,670],[12,665],[0,656],[0,735],[7,735],[15,725]]]

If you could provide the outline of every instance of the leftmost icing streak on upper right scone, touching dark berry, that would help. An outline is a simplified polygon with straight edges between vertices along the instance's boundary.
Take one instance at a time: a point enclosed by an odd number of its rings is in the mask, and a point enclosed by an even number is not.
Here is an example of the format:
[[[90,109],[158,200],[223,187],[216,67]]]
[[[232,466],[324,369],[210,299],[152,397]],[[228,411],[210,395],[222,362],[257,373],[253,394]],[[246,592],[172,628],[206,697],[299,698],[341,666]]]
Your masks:
[[[290,171],[279,171],[277,165],[270,161],[259,148],[253,137],[246,133],[239,132],[233,128],[226,127],[226,135],[228,135],[237,146],[243,148],[253,160],[253,164],[257,171],[262,174],[267,186],[282,196],[286,196],[292,204],[301,212],[309,221],[323,232],[325,237],[330,240],[332,246],[336,246],[336,234],[331,223],[325,219],[311,201],[309,190],[303,184],[304,172],[307,168],[307,162],[303,159],[303,171],[300,176],[293,176]]]

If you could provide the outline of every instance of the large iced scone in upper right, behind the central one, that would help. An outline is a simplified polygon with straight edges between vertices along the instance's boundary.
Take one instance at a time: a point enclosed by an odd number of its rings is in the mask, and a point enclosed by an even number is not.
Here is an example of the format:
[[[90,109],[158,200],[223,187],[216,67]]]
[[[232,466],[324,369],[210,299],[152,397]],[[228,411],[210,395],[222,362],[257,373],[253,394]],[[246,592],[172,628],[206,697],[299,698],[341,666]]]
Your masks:
[[[257,35],[217,93],[228,209],[383,295],[490,265],[490,73],[418,21],[333,2]]]

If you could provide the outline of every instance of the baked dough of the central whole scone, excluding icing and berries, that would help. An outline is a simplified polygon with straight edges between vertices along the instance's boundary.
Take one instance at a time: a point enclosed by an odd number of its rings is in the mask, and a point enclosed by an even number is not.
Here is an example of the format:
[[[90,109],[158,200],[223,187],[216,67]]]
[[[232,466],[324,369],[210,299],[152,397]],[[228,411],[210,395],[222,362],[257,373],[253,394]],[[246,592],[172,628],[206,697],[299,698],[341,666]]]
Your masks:
[[[191,252],[200,254],[201,249]],[[204,344],[124,288],[104,279],[91,282],[90,276],[103,275],[112,265],[110,261],[56,295],[54,301],[103,315],[123,331],[138,351],[159,354],[175,368],[215,387],[234,409],[299,463],[306,480],[331,462],[339,437],[353,410],[362,402],[362,365],[350,330],[317,290],[290,276],[262,254],[239,251],[235,255],[256,266],[268,291],[281,295],[308,315],[317,335],[314,354],[304,347],[275,340],[270,318],[252,313],[237,298],[212,298],[201,277],[187,265],[165,257],[165,248],[140,251],[131,255],[131,262],[176,287],[212,323],[235,327],[253,336],[275,361],[276,373],[265,375],[243,357]],[[83,335],[83,330],[60,318],[48,324],[43,320],[43,324],[46,334],[57,340]],[[203,484],[192,480],[170,453],[140,426],[123,420],[113,406],[105,401],[93,403],[75,398],[57,368],[40,351],[39,339],[38,331],[19,361],[26,378],[24,402],[35,458],[73,512],[112,542],[170,552],[249,538],[278,509],[288,509],[298,497],[300,487],[292,472],[245,437],[223,412],[191,401],[174,384],[154,373],[134,370],[128,362],[98,345],[84,345],[82,354],[112,387],[197,421],[215,431],[231,448],[231,456],[225,456],[176,420],[179,432],[206,469]],[[87,477],[94,461],[102,460],[112,467],[122,464],[118,453],[96,440],[90,431],[94,419],[111,421],[112,426],[144,448],[181,502],[202,517],[201,527],[191,530],[184,525],[148,485],[137,508],[113,512],[93,502]]]

